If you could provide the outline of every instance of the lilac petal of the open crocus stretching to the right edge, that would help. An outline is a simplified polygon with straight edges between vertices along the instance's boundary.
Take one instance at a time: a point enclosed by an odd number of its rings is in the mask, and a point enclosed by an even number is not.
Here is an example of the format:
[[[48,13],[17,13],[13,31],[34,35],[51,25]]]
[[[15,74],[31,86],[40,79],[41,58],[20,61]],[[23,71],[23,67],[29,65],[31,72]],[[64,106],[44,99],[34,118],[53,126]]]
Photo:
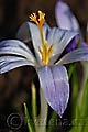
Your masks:
[[[68,64],[68,63],[74,63],[78,61],[88,61],[88,47],[77,48],[69,52],[64,57],[62,57],[56,63],[56,65]]]

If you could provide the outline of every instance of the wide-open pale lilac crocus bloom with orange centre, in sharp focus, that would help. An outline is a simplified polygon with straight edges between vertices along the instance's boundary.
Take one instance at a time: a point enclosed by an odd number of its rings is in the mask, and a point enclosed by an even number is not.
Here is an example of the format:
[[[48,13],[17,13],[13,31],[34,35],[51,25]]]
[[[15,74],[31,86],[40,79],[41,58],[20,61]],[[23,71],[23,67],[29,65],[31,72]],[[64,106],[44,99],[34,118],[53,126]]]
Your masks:
[[[38,16],[35,13],[30,16],[35,24],[28,22],[35,55],[20,41],[0,42],[0,73],[24,65],[34,66],[48,105],[62,117],[69,99],[68,75],[63,65],[88,61],[88,47],[75,50],[61,58],[61,54],[77,33],[58,28],[51,29],[44,25],[44,16],[45,14],[38,11]]]

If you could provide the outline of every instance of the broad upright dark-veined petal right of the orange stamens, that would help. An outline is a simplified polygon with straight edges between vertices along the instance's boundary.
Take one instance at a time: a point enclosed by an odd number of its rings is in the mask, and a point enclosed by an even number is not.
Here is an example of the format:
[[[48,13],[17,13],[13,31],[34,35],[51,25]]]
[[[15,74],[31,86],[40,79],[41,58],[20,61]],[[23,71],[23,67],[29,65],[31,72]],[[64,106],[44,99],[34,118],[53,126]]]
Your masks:
[[[78,35],[77,32],[62,30],[58,28],[53,28],[48,31],[47,41],[48,44],[53,44],[53,54],[51,56],[52,63],[55,63],[57,59],[55,56],[59,57],[65,47],[76,35]]]

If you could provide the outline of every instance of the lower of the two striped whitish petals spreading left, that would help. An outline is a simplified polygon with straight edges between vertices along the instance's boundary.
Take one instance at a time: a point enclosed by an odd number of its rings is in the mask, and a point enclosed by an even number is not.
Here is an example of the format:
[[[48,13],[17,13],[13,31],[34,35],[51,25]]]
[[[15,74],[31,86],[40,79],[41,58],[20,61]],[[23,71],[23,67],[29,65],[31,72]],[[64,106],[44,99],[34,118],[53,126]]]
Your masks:
[[[33,65],[28,62],[25,58],[16,56],[1,56],[0,57],[0,74],[14,69],[16,67]]]

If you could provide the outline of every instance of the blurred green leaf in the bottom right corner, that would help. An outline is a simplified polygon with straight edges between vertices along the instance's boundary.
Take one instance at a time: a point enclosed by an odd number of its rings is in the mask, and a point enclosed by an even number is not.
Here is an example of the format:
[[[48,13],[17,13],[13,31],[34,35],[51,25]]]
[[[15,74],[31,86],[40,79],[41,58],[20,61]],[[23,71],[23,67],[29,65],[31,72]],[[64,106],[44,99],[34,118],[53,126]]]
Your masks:
[[[87,132],[88,131],[88,80],[79,92],[78,101],[75,108],[75,117],[72,121],[74,125],[69,132]]]

